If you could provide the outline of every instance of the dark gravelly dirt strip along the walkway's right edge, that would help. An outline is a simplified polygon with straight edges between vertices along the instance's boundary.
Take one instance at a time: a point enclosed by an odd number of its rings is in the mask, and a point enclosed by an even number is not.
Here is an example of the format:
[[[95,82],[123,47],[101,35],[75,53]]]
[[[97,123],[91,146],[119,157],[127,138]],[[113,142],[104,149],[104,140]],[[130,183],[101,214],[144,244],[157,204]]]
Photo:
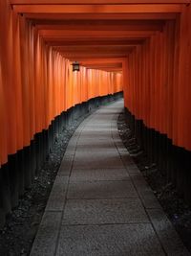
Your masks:
[[[128,151],[138,151],[133,158],[144,178],[159,199],[169,220],[173,223],[180,238],[191,253],[191,207],[186,205],[171,183],[166,184],[166,176],[159,172],[155,164],[150,164],[144,151],[139,151],[135,138],[133,138],[125,114],[122,112],[117,121],[119,135]],[[131,146],[130,146],[131,144]]]

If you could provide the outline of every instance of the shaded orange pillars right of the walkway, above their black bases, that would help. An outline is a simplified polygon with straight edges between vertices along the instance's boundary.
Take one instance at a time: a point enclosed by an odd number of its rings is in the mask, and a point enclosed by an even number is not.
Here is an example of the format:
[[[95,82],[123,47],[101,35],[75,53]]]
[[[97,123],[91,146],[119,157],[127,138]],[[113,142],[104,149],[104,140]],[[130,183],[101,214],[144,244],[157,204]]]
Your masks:
[[[128,69],[123,70],[129,73],[125,105],[146,126],[189,151],[190,14],[191,8],[184,7],[180,19],[168,21],[161,32],[150,37],[150,42],[147,40],[129,55]],[[145,65],[149,66],[147,70]]]

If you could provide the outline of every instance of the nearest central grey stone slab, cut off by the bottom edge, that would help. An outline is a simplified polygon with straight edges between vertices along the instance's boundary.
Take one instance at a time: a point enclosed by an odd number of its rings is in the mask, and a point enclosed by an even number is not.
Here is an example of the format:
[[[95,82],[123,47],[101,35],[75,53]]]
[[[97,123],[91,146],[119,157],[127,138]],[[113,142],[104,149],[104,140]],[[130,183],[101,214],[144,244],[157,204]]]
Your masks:
[[[164,256],[151,224],[63,225],[56,256]]]

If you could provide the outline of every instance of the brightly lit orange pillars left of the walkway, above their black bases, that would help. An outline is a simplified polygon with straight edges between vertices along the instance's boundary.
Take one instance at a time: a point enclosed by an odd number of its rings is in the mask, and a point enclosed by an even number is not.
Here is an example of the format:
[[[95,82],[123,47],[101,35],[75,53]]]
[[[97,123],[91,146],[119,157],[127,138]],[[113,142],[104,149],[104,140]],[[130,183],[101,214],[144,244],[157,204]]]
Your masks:
[[[0,4],[2,165],[9,154],[29,146],[36,132],[49,128],[62,111],[92,97],[120,91],[122,84],[121,74],[116,72],[81,66],[79,73],[73,73],[72,62],[47,45],[25,16],[12,12],[7,1],[0,0]],[[100,63],[96,56],[94,68],[99,67],[97,61]],[[104,58],[102,68],[120,70],[121,61],[118,55]]]

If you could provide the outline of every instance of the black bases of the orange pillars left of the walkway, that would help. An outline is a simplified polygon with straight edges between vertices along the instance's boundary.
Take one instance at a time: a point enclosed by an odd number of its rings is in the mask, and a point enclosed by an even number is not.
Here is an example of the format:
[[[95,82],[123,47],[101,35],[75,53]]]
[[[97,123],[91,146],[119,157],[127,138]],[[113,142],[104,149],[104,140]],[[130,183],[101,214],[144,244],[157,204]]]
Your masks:
[[[75,120],[83,120],[100,105],[107,105],[121,96],[119,92],[96,97],[71,107],[55,117],[49,129],[35,134],[29,147],[9,155],[8,163],[0,168],[0,227],[5,224],[6,216],[18,205],[19,198],[24,195],[26,189],[32,187],[34,177],[39,175],[49,153],[53,150],[57,134],[66,128],[70,129]]]

